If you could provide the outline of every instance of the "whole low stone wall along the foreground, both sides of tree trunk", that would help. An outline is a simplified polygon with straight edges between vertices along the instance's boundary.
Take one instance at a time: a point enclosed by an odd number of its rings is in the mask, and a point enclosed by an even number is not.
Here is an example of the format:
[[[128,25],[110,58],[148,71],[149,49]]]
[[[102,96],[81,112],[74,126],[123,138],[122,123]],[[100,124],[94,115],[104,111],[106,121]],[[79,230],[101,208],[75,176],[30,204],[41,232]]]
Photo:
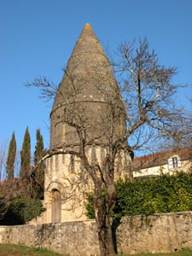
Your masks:
[[[125,217],[116,227],[119,253],[170,253],[192,248],[192,212]],[[47,247],[71,256],[100,255],[93,220],[0,226],[0,243]]]

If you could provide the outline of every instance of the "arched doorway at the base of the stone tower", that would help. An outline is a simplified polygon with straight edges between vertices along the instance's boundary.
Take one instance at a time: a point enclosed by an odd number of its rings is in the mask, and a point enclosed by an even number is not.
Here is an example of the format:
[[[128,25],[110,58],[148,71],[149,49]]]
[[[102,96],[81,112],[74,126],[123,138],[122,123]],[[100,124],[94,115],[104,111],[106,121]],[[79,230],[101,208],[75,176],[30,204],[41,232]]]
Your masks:
[[[57,189],[52,191],[51,222],[61,222],[61,193]]]

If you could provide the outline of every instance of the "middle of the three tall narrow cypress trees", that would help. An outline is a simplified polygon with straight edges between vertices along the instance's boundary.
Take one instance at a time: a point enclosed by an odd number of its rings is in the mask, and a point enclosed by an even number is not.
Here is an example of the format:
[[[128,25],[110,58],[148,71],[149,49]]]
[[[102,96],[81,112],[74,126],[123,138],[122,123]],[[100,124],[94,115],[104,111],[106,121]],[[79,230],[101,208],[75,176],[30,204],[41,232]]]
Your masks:
[[[20,177],[27,178],[31,171],[31,138],[26,127],[22,150],[20,152]]]

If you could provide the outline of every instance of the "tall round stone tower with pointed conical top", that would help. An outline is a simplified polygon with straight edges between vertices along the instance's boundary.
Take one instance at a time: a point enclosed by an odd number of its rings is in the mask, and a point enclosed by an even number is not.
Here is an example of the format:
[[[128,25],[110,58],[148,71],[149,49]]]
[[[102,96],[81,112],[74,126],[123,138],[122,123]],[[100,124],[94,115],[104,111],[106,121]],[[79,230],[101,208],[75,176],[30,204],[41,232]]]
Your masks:
[[[85,24],[67,62],[50,113],[50,126],[49,149],[56,154],[46,160],[47,222],[84,219],[84,191],[91,189],[91,183],[79,186],[84,167],[72,154],[80,147],[78,129],[84,127],[81,136],[90,161],[101,165],[109,141],[125,134],[125,106],[119,87],[90,24]],[[128,172],[130,155],[125,148],[117,156],[116,178]]]

